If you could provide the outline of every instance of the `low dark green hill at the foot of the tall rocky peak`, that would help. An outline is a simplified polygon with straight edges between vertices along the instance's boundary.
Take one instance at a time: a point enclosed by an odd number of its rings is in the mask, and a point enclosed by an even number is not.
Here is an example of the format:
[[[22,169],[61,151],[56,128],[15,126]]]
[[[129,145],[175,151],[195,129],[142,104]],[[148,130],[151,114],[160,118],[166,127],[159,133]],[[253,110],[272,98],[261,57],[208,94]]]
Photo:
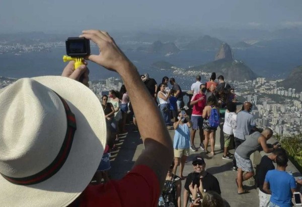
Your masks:
[[[204,65],[191,67],[195,70],[203,70],[204,72],[216,72],[223,75],[224,79],[246,81],[256,79],[257,75],[244,62],[238,60],[216,60]]]

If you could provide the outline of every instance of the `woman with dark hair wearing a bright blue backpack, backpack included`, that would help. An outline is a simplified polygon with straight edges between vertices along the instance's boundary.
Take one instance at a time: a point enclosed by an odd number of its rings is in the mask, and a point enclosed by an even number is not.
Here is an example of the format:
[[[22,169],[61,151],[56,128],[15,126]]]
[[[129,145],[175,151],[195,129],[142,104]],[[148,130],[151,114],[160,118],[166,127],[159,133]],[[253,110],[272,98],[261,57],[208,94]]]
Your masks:
[[[215,131],[219,126],[219,108],[217,99],[213,94],[207,99],[206,106],[202,112],[202,118],[204,119],[202,126],[204,133],[204,150],[208,153],[207,147],[210,140],[211,155],[215,155]]]

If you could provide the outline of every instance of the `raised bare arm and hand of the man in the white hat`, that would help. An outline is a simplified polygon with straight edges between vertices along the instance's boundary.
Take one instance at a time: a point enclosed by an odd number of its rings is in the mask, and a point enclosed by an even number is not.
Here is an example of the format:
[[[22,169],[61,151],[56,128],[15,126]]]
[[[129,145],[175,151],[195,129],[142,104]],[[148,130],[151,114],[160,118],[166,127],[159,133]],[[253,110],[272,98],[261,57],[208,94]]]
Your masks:
[[[83,31],[81,37],[92,40],[100,48],[99,55],[90,55],[88,59],[118,72],[123,79],[145,147],[134,165],[147,165],[151,168],[159,179],[161,190],[173,160],[173,147],[154,97],[149,94],[142,81],[137,81],[140,76],[136,67],[107,32],[87,30]]]

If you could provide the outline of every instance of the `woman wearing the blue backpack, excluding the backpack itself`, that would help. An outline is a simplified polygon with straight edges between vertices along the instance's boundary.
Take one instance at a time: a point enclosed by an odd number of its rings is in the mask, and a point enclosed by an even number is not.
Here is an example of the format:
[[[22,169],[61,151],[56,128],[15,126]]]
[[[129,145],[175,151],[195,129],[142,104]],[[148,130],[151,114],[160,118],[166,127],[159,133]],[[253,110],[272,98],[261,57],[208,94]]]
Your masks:
[[[210,140],[211,155],[215,155],[215,153],[214,153],[215,131],[217,130],[217,128],[210,127],[208,119],[210,117],[211,110],[214,107],[216,108],[216,110],[219,114],[217,98],[212,94],[208,97],[208,99],[206,101],[206,106],[202,112],[202,118],[204,119],[203,125],[202,125],[202,129],[203,129],[203,133],[204,133],[204,150],[206,153],[208,153],[207,147],[208,147],[209,140]]]

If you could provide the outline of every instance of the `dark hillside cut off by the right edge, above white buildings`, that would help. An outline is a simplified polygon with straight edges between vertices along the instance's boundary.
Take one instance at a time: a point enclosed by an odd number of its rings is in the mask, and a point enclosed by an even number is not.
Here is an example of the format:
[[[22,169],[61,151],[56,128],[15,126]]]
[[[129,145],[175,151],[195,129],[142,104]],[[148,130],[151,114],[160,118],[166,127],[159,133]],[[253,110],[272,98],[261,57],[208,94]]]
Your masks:
[[[302,65],[295,67],[285,80],[278,83],[278,87],[295,88],[296,92],[302,92],[301,77]]]

